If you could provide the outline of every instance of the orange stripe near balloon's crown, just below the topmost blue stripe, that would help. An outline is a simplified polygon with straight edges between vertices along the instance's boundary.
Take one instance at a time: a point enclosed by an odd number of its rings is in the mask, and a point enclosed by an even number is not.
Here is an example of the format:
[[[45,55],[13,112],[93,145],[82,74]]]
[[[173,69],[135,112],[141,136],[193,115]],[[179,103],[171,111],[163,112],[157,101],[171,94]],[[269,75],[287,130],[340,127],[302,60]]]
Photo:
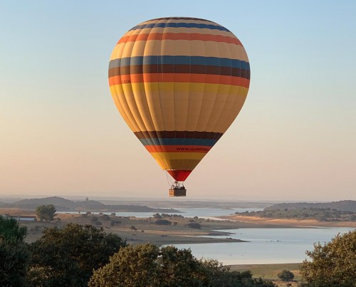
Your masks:
[[[138,35],[125,36],[120,38],[120,43],[127,43],[132,41],[150,41],[150,40],[199,40],[199,41],[214,41],[221,43],[236,44],[242,46],[238,38],[229,36],[201,34],[201,33],[143,33]]]

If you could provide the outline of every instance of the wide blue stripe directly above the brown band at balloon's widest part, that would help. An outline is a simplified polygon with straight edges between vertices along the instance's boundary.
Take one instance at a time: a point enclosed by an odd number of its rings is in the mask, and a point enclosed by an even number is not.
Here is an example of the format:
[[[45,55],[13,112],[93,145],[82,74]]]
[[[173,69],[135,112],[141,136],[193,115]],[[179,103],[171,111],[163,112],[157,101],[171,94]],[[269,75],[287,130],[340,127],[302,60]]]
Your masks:
[[[240,68],[250,71],[250,63],[237,59],[202,56],[136,56],[111,60],[109,68],[137,65],[203,65]]]

